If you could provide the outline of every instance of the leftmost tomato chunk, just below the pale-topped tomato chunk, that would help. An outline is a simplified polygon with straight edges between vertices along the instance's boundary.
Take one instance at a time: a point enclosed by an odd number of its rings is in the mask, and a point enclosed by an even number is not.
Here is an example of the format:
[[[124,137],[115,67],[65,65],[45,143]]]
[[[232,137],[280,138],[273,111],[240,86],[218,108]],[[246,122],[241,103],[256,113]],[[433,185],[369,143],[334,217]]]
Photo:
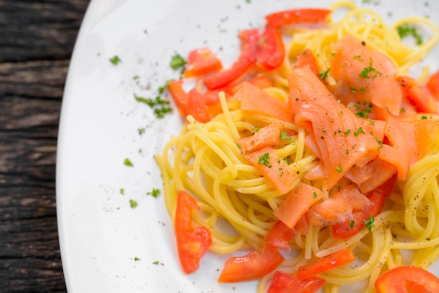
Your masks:
[[[183,81],[179,79],[169,83],[169,92],[183,116],[192,115],[196,121],[202,123],[210,121],[208,107],[205,104],[203,95],[196,88],[186,93],[183,88]]]

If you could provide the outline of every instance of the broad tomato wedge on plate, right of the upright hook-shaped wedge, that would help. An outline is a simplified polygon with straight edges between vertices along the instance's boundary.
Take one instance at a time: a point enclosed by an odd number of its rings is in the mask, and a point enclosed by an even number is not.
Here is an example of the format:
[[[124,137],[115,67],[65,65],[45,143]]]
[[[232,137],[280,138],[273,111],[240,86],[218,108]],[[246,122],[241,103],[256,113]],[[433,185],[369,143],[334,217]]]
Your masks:
[[[274,271],[285,259],[276,247],[265,244],[262,252],[250,252],[243,257],[227,259],[218,282],[257,280]]]

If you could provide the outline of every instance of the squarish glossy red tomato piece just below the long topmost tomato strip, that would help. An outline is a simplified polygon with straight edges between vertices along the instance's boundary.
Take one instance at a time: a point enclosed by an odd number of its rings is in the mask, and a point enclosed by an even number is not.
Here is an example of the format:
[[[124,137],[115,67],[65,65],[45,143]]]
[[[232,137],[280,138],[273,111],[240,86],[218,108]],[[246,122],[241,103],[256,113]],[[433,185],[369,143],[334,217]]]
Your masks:
[[[259,42],[260,50],[256,64],[270,71],[281,67],[285,57],[285,47],[281,34],[272,27],[266,27]]]

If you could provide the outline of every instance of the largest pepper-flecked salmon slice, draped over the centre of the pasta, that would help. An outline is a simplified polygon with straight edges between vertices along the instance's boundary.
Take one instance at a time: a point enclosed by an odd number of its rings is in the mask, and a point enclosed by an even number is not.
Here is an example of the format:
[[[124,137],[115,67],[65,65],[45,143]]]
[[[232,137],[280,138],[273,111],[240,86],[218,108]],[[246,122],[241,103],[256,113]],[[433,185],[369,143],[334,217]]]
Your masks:
[[[323,164],[324,188],[330,189],[353,164],[378,150],[379,144],[370,134],[374,125],[337,102],[308,67],[293,69],[288,83],[294,121],[308,130],[312,139],[306,142],[315,142]]]

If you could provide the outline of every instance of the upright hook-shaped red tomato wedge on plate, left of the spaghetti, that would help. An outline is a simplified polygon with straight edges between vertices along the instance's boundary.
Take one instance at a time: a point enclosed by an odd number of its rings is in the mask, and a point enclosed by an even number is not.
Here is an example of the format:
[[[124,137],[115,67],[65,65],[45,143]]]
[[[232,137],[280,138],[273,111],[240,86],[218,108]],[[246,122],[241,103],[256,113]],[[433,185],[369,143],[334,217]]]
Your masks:
[[[196,200],[186,191],[178,191],[175,209],[175,236],[180,264],[184,273],[194,273],[200,259],[212,245],[210,230],[205,226],[192,229],[192,211],[200,210]]]

